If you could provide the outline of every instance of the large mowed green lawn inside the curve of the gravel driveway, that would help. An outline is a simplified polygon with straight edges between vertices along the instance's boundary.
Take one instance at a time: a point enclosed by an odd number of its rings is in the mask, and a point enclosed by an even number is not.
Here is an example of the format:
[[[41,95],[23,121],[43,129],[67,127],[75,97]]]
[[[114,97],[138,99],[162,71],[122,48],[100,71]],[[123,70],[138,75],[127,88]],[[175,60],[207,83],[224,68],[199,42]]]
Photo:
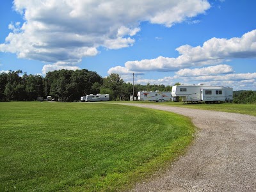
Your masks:
[[[193,140],[184,116],[100,103],[0,102],[0,191],[122,191]]]

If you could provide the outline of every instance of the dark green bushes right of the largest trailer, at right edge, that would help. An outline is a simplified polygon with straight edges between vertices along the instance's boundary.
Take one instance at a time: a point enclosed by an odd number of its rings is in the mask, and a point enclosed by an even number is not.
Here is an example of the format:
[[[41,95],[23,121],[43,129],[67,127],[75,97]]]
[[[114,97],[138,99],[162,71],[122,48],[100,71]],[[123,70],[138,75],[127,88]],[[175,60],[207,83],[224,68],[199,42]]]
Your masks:
[[[234,103],[239,104],[256,104],[255,91],[235,91],[233,92]]]

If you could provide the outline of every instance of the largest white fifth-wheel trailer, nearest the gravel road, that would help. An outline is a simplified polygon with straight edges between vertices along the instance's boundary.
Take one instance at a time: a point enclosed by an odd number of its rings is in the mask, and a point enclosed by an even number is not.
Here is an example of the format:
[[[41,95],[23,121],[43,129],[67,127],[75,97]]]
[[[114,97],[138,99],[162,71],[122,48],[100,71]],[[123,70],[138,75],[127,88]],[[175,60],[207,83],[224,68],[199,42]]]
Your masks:
[[[217,102],[232,102],[233,88],[225,86],[175,85],[172,87],[173,101],[182,97],[184,102],[205,102],[207,104]]]

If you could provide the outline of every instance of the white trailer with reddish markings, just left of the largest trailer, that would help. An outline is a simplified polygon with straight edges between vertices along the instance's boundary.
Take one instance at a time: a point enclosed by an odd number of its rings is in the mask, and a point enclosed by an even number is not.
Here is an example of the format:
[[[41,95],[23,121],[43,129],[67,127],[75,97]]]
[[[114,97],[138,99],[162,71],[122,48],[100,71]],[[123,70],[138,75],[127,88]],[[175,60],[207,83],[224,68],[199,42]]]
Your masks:
[[[164,102],[172,100],[171,92],[138,92],[137,94],[138,100],[148,100],[148,101],[156,101],[156,102]]]

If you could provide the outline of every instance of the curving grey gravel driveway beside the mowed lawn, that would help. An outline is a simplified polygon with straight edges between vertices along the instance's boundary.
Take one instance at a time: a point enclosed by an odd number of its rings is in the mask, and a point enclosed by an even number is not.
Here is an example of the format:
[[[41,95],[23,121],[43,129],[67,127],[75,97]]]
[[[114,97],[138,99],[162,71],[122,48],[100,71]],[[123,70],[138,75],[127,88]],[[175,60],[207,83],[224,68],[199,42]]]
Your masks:
[[[198,127],[188,153],[132,191],[256,191],[256,117],[127,104],[188,116]]]

